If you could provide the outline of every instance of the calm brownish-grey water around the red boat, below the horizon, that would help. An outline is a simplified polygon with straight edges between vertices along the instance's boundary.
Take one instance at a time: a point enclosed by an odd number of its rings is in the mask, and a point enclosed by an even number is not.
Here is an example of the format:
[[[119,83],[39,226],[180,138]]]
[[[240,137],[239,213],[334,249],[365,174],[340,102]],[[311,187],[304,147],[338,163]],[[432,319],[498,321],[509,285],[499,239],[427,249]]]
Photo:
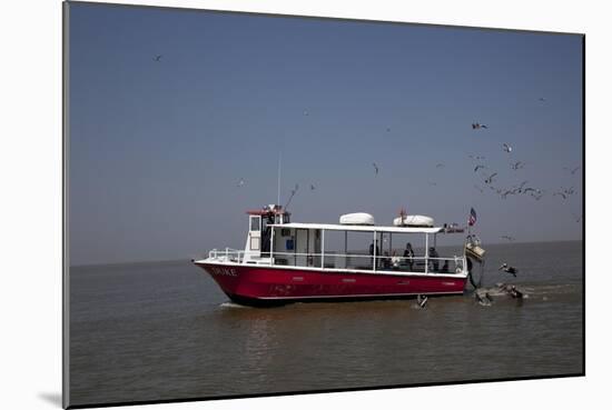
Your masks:
[[[257,309],[188,261],[73,267],[70,404],[581,373],[582,242],[486,249],[484,286],[526,299]]]

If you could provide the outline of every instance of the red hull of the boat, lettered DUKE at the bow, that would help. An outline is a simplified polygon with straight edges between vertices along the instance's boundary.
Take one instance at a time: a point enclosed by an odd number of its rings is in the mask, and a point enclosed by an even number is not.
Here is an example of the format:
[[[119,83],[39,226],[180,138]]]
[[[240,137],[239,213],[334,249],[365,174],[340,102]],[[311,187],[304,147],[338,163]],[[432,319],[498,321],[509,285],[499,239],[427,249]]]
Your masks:
[[[466,278],[448,274],[388,274],[195,262],[240,304],[387,299],[416,294],[461,294]]]

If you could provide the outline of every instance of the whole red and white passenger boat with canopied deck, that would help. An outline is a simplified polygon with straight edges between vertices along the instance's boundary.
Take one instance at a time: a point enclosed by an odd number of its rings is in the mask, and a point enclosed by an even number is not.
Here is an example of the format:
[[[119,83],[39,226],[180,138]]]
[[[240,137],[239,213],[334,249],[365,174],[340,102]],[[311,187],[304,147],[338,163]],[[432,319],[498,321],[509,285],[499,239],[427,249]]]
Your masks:
[[[435,227],[424,216],[401,214],[393,226],[377,226],[364,212],[344,214],[337,224],[292,222],[290,213],[276,204],[247,214],[244,250],[214,249],[207,258],[193,261],[240,304],[461,294],[472,266],[468,257],[482,260],[473,236],[467,241],[471,248],[438,256],[437,236],[464,229]],[[364,237],[369,252],[349,251],[351,243],[363,242]],[[412,247],[399,254],[394,241],[424,244],[422,254]]]

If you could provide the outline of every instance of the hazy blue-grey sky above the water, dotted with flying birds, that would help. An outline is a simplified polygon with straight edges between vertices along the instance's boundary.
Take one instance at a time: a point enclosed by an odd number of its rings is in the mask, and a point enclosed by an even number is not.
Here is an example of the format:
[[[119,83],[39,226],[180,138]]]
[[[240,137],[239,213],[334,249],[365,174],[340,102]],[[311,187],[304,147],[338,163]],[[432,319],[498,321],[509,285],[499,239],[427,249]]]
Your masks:
[[[72,3],[69,79],[72,264],[243,248],[279,153],[294,221],[474,207],[485,243],[582,237],[580,36]]]

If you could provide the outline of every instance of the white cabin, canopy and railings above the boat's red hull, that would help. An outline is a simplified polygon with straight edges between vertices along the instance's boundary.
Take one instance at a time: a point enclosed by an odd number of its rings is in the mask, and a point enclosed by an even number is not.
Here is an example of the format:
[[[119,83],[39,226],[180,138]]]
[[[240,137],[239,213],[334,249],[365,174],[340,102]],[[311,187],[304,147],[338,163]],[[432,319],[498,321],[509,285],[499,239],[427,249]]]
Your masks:
[[[434,227],[428,217],[402,217],[399,222],[394,221],[394,226],[376,226],[372,216],[353,213],[342,216],[338,224],[298,223],[292,222],[290,213],[275,204],[247,211],[247,214],[249,230],[244,252],[213,250],[211,260],[325,271],[467,274],[464,251],[445,258],[436,251],[437,234],[463,232],[463,229],[456,224]],[[404,218],[418,220],[422,226],[404,223]],[[351,250],[349,246],[355,247],[354,237],[359,237],[362,243],[365,239],[369,252]],[[404,249],[403,244],[409,243],[411,238],[413,242],[421,240],[418,243],[424,244],[421,254],[415,254],[412,247]],[[401,244],[398,249],[393,247],[394,239],[396,244]]]

